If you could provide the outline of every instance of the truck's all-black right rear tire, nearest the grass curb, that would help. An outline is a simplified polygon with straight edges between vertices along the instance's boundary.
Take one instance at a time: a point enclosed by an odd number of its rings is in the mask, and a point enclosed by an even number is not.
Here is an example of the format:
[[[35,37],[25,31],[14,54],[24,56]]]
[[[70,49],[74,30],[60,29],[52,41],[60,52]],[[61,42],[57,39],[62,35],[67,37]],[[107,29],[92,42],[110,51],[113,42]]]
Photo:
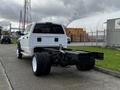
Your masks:
[[[95,66],[95,59],[91,58],[88,60],[81,60],[79,64],[76,65],[76,68],[79,71],[89,71]]]

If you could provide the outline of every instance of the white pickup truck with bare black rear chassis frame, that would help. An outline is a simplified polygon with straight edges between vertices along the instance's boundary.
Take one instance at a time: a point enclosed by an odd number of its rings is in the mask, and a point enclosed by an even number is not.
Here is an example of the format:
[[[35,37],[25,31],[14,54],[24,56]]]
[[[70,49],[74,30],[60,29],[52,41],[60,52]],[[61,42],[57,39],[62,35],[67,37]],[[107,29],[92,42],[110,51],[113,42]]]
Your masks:
[[[36,76],[48,75],[53,65],[76,65],[78,70],[91,70],[95,59],[103,59],[100,52],[67,49],[68,37],[59,24],[32,23],[20,35],[17,57],[32,56],[32,70]]]

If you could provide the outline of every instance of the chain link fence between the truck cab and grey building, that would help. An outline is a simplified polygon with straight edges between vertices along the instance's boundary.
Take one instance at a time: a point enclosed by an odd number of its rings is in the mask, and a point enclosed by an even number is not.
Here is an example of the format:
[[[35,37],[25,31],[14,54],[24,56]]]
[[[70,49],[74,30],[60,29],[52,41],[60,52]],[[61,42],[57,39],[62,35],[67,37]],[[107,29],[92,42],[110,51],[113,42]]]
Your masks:
[[[91,31],[81,35],[71,35],[70,37],[71,37],[71,41],[74,41],[71,43],[71,45],[80,45],[80,46],[106,45],[106,30],[97,30],[94,32]]]

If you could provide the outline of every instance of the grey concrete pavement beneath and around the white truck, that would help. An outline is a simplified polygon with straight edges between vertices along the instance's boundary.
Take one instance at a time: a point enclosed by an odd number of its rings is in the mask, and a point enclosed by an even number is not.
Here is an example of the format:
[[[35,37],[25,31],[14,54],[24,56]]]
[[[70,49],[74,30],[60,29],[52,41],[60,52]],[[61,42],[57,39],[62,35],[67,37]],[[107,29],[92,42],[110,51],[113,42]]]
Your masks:
[[[94,70],[80,72],[74,66],[52,67],[50,75],[36,77],[31,58],[17,59],[16,45],[0,45],[0,62],[8,77],[2,71],[0,76],[8,78],[9,84],[3,79],[0,83],[5,87],[11,85],[13,90],[120,90],[119,78]],[[1,86],[0,90],[5,90]]]

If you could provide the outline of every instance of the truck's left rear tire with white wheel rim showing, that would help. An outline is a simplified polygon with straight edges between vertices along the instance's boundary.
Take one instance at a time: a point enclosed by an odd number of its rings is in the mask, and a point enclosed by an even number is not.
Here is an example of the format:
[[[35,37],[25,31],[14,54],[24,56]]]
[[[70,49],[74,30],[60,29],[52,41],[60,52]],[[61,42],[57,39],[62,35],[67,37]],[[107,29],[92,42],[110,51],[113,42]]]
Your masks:
[[[48,75],[51,70],[50,55],[46,52],[36,53],[32,58],[32,70],[36,76]]]

